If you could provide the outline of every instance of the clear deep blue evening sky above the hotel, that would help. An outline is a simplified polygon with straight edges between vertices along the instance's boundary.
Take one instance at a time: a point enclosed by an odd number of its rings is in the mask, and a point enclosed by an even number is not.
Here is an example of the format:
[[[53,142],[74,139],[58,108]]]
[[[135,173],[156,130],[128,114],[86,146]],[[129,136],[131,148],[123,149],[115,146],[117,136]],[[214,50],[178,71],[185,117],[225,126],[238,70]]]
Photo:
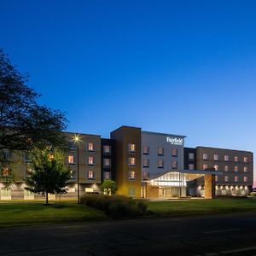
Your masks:
[[[68,131],[256,152],[256,1],[0,0],[0,47]]]

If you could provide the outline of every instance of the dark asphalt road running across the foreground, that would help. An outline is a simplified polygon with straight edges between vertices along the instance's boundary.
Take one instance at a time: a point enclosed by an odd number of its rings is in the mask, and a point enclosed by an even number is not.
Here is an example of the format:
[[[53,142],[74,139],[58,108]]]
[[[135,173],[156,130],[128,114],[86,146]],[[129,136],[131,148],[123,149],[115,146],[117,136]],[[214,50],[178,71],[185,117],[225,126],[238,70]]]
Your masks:
[[[0,255],[256,255],[256,214],[0,229]]]

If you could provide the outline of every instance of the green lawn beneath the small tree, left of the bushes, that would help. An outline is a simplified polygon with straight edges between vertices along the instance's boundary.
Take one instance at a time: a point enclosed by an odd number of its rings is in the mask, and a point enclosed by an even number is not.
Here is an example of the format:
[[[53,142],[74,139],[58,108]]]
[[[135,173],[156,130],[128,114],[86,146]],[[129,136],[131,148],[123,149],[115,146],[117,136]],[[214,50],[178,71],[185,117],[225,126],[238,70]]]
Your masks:
[[[0,227],[23,224],[67,223],[106,218],[103,212],[84,205],[78,205],[75,202],[55,202],[49,206],[44,206],[41,202],[0,204]]]

